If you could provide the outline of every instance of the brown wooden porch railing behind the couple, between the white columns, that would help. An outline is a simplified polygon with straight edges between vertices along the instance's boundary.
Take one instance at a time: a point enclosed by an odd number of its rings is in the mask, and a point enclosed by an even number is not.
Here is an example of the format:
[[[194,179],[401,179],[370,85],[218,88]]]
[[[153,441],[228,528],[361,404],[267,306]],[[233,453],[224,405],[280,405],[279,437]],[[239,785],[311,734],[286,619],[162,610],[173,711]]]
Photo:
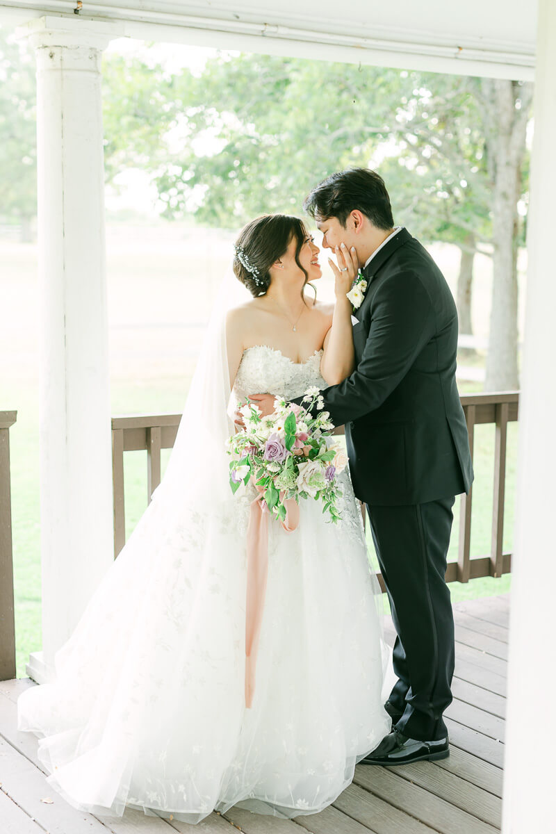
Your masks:
[[[473,489],[460,499],[458,561],[449,562],[447,582],[468,582],[481,576],[499,577],[511,570],[512,556],[503,553],[504,495],[506,484],[506,443],[508,422],[518,420],[519,394],[473,394],[461,398],[467,420],[469,445],[473,455],[476,425],[496,425],[494,448],[494,490],[491,548],[488,555],[471,558],[471,509]],[[160,483],[160,453],[170,449],[176,439],[181,414],[114,417],[112,420],[113,489],[114,489],[114,553],[125,544],[125,508],[123,500],[123,453],[147,450],[147,499]],[[364,517],[364,515],[363,515]],[[381,587],[383,578],[378,575]]]

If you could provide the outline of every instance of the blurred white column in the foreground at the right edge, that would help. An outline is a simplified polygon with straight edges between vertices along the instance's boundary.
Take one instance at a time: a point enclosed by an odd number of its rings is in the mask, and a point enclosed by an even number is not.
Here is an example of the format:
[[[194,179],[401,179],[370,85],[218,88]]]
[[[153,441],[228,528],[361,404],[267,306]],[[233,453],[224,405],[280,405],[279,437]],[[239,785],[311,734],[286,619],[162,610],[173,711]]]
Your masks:
[[[509,628],[503,834],[554,830],[556,4],[538,2],[531,209],[515,556]]]

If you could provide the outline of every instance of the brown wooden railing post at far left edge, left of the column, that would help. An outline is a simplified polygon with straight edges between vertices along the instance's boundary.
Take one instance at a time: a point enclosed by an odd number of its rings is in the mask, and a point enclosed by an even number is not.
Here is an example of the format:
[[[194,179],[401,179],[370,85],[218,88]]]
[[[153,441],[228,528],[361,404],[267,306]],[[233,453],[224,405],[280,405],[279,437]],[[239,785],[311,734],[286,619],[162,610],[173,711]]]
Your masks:
[[[17,416],[17,411],[0,411],[0,681],[16,676],[10,426]]]

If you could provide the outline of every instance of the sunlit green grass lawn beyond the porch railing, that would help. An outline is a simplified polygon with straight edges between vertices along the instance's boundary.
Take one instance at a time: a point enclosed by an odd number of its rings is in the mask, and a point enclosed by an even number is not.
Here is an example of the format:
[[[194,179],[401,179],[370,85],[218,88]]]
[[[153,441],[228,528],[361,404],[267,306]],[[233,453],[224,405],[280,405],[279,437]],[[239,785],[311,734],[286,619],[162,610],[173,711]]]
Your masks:
[[[133,234],[132,234],[133,232]],[[139,234],[140,233],[140,234]],[[228,238],[230,236],[228,235]],[[174,227],[108,229],[108,300],[113,414],[179,413],[193,371],[206,309],[228,263],[229,240]],[[209,245],[208,245],[209,244]],[[457,261],[448,249],[438,263],[454,283]],[[478,330],[488,312],[490,277],[479,264],[474,302]],[[329,290],[329,286],[328,286]],[[30,244],[0,241],[0,355],[4,364],[0,409],[17,409],[11,430],[13,555],[17,674],[25,675],[32,651],[41,648],[41,569],[38,464],[38,287],[37,253]],[[326,286],[319,284],[320,297]],[[487,312],[485,312],[487,311]],[[477,363],[481,364],[478,357]],[[468,364],[463,359],[463,364]],[[477,390],[462,384],[462,393]],[[517,425],[508,429],[504,549],[511,550]],[[475,436],[472,557],[487,555],[493,500],[494,427],[478,426]],[[163,463],[168,460],[168,452]],[[146,452],[125,460],[128,534],[147,505]],[[448,558],[457,558],[458,502]],[[450,585],[452,599],[508,591],[510,576]],[[386,599],[386,597],[384,597]]]

